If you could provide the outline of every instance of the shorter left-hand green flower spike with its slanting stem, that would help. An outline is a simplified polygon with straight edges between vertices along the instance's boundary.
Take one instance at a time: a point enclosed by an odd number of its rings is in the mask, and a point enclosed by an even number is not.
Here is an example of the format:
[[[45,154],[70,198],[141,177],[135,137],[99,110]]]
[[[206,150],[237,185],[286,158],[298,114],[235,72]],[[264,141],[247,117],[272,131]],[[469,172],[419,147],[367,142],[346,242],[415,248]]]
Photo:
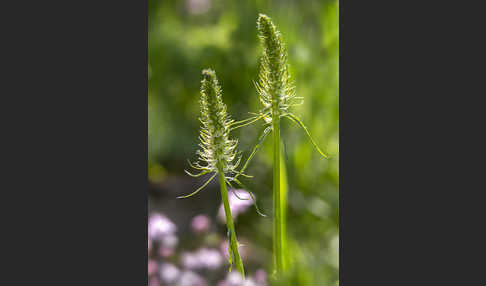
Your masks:
[[[228,247],[230,257],[230,271],[234,264],[236,269],[244,276],[243,262],[238,252],[238,242],[236,240],[236,232],[234,229],[233,219],[231,217],[231,210],[228,201],[228,189],[226,184],[230,186],[230,190],[237,196],[234,188],[230,182],[241,184],[237,179],[238,175],[250,177],[237,170],[241,161],[241,156],[236,151],[238,140],[230,139],[229,133],[235,128],[239,128],[246,124],[251,124],[255,118],[235,122],[230,118],[226,111],[226,105],[223,103],[222,91],[219,85],[216,73],[211,69],[202,71],[203,79],[201,81],[201,130],[199,139],[201,149],[197,151],[198,161],[195,163],[189,162],[189,165],[199,170],[198,174],[192,174],[184,170],[192,177],[200,177],[208,173],[214,173],[201,187],[191,194],[180,196],[178,198],[191,197],[204,189],[216,176],[219,176],[221,187],[221,197],[226,214],[226,224],[228,227]],[[258,119],[257,119],[258,120]],[[245,189],[246,190],[246,189]],[[246,190],[252,200],[253,204],[260,215],[263,215],[257,205],[256,200],[250,191]],[[238,197],[238,196],[237,196]],[[264,216],[264,215],[263,215]]]

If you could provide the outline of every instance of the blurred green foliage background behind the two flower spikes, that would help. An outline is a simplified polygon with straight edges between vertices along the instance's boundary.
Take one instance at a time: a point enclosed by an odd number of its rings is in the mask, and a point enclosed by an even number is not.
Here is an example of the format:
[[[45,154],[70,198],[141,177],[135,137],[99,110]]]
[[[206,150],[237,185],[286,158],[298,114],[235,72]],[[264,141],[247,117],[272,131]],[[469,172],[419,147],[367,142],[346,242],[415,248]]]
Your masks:
[[[272,17],[287,43],[297,95],[305,99],[303,105],[293,108],[293,113],[330,155],[323,159],[301,128],[283,121],[290,204],[288,244],[295,269],[290,285],[337,285],[337,1],[149,0],[149,179],[163,181],[168,176],[182,176],[188,168],[186,159],[195,159],[203,68],[216,71],[232,118],[247,118],[248,112],[261,108],[253,86],[261,52],[256,31],[258,13]],[[260,123],[232,134],[240,140],[239,149],[245,156],[263,131]],[[254,178],[245,180],[267,214],[272,211],[270,143],[267,138],[248,168],[247,173]],[[254,214],[238,221],[236,228],[271,251],[270,219]]]

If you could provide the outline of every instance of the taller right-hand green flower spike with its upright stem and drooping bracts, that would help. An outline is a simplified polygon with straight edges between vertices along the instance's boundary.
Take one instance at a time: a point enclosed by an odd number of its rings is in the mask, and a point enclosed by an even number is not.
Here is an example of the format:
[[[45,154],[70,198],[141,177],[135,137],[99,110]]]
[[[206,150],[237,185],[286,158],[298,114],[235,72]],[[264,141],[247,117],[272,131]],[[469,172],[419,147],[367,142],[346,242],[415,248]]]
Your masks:
[[[284,170],[284,162],[281,162],[280,150],[280,119],[288,118],[304,129],[312,145],[324,157],[327,155],[321,151],[312,139],[309,131],[302,121],[289,109],[303,103],[302,97],[295,94],[295,86],[290,79],[287,63],[287,50],[284,45],[282,34],[277,30],[272,20],[263,14],[258,16],[258,36],[263,46],[263,55],[260,62],[260,73],[255,87],[263,108],[258,114],[249,119],[251,124],[259,119],[264,119],[264,126],[267,126],[253,148],[250,156],[243,165],[240,173],[243,173],[267,135],[273,133],[273,254],[275,274],[279,276],[288,269],[289,256],[286,250],[286,188],[280,185],[281,168]],[[242,126],[247,124],[241,124]],[[283,166],[283,167],[282,167]],[[235,180],[239,174],[236,174]]]

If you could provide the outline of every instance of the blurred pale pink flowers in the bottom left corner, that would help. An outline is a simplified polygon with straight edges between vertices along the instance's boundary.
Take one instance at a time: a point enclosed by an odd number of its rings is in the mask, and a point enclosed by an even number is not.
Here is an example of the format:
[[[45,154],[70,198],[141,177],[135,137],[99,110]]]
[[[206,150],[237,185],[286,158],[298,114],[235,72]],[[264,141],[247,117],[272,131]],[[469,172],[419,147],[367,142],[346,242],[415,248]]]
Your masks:
[[[234,199],[230,199],[234,204]],[[240,209],[240,211],[244,211]],[[192,240],[202,243],[194,250],[180,251],[177,226],[166,215],[152,212],[148,219],[148,276],[149,286],[266,286],[266,273],[258,269],[254,275],[243,279],[237,272],[222,275],[225,257],[228,257],[228,241],[211,232],[214,221],[207,215],[196,215],[191,220]],[[189,232],[188,234],[190,234]],[[217,237],[210,243],[209,237]],[[182,239],[184,241],[184,239]],[[219,242],[218,242],[219,241]],[[198,243],[199,244],[199,243]],[[163,251],[165,249],[165,251]],[[170,252],[167,252],[167,250]]]

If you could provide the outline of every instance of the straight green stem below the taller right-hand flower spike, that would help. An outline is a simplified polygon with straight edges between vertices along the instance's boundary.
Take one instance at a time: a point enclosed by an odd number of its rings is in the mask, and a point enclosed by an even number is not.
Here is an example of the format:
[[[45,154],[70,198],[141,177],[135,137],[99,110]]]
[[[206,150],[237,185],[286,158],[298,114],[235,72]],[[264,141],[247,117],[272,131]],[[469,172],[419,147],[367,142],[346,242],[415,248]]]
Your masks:
[[[282,209],[280,201],[280,118],[273,116],[273,255],[276,274],[283,271]]]

